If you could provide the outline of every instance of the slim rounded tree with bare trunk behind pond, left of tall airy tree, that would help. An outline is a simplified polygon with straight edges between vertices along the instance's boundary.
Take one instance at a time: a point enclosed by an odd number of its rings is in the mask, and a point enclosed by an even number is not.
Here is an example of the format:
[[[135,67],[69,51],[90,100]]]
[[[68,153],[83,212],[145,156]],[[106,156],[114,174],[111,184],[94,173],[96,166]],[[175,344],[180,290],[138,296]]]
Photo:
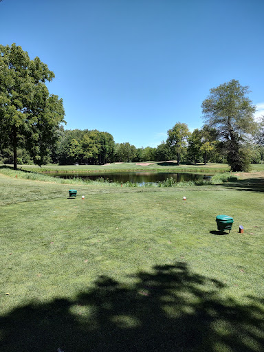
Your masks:
[[[190,131],[187,124],[177,122],[172,129],[168,130],[168,138],[166,140],[173,157],[177,157],[177,164],[179,165],[179,159],[184,148],[187,146],[187,140],[190,136]]]

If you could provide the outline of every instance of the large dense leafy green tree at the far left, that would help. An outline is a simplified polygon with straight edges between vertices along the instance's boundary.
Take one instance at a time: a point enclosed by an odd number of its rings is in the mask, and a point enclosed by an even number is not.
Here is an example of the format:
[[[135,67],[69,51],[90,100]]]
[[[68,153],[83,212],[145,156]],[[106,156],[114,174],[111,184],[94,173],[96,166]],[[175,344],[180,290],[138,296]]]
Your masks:
[[[45,81],[54,72],[15,43],[0,45],[0,133],[1,148],[12,146],[14,169],[17,148],[29,151],[35,164],[45,163],[58,138],[65,112],[63,100],[50,95]]]

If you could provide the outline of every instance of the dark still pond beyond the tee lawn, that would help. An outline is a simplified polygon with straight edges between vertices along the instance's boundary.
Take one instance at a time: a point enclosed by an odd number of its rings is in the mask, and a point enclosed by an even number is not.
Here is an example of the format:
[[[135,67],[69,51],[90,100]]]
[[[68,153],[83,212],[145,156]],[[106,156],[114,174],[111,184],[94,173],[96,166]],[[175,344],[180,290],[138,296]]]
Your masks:
[[[131,172],[131,173],[56,173],[50,174],[54,177],[61,177],[65,179],[72,179],[74,177],[80,177],[82,179],[91,179],[96,180],[102,177],[104,180],[108,180],[110,182],[119,182],[125,183],[127,181],[131,181],[133,184],[139,184],[140,186],[146,183],[157,183],[158,181],[164,181],[170,177],[177,180],[177,182],[181,181],[198,181],[201,179],[209,179],[212,175],[204,175],[197,173],[149,173],[149,172]]]

